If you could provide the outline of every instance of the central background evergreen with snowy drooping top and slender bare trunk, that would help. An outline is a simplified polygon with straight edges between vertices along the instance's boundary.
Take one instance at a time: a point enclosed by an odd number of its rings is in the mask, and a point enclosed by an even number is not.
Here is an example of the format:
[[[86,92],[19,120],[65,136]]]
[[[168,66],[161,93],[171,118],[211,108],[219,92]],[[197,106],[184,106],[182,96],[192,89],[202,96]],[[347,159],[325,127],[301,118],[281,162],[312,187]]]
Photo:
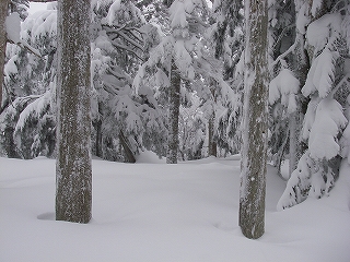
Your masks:
[[[167,163],[177,163],[178,102],[182,90],[178,85],[182,85],[183,80],[192,81],[196,76],[194,57],[196,51],[200,51],[196,49],[196,44],[203,29],[201,12],[206,10],[206,3],[202,0],[175,0],[167,4],[170,4],[171,33],[151,52],[133,83],[140,90],[140,86],[144,85],[144,76],[150,73],[155,76],[159,86],[167,87],[170,110]]]

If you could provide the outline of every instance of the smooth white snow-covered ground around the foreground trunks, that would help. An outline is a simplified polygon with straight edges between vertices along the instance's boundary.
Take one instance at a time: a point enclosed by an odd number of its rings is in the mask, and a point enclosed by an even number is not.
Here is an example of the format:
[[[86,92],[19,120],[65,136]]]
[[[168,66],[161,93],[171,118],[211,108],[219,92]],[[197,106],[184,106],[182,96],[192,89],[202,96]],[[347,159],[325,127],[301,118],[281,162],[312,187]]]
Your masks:
[[[242,236],[240,159],[166,165],[93,160],[93,221],[55,222],[55,160],[0,158],[0,261],[349,262],[350,167],[328,198],[276,211],[285,182],[268,169],[266,234]]]

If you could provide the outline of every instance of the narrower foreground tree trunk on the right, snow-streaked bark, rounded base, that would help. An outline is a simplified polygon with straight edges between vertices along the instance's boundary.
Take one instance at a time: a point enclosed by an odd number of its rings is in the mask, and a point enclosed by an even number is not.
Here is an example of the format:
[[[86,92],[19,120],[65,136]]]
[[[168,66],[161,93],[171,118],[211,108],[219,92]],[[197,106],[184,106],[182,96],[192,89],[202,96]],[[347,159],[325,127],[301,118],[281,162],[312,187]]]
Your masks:
[[[267,1],[245,1],[245,93],[240,226],[247,238],[265,231],[267,162]]]

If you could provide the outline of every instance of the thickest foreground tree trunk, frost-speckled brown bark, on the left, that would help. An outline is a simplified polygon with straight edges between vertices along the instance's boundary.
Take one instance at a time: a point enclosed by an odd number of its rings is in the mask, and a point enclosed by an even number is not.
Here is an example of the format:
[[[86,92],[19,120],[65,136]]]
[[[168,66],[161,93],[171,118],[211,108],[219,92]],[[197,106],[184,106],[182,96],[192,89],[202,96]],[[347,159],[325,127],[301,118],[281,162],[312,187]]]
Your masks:
[[[89,223],[92,206],[90,0],[58,1],[56,219]]]

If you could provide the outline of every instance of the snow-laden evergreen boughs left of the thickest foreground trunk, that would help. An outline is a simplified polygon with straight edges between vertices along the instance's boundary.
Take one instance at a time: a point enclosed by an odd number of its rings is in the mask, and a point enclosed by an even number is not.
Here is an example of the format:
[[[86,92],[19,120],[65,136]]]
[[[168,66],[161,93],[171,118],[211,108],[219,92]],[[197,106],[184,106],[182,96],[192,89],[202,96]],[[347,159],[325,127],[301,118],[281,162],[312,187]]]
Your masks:
[[[0,140],[9,157],[55,155],[56,13],[42,11],[22,23],[21,43],[35,53],[8,44]]]

